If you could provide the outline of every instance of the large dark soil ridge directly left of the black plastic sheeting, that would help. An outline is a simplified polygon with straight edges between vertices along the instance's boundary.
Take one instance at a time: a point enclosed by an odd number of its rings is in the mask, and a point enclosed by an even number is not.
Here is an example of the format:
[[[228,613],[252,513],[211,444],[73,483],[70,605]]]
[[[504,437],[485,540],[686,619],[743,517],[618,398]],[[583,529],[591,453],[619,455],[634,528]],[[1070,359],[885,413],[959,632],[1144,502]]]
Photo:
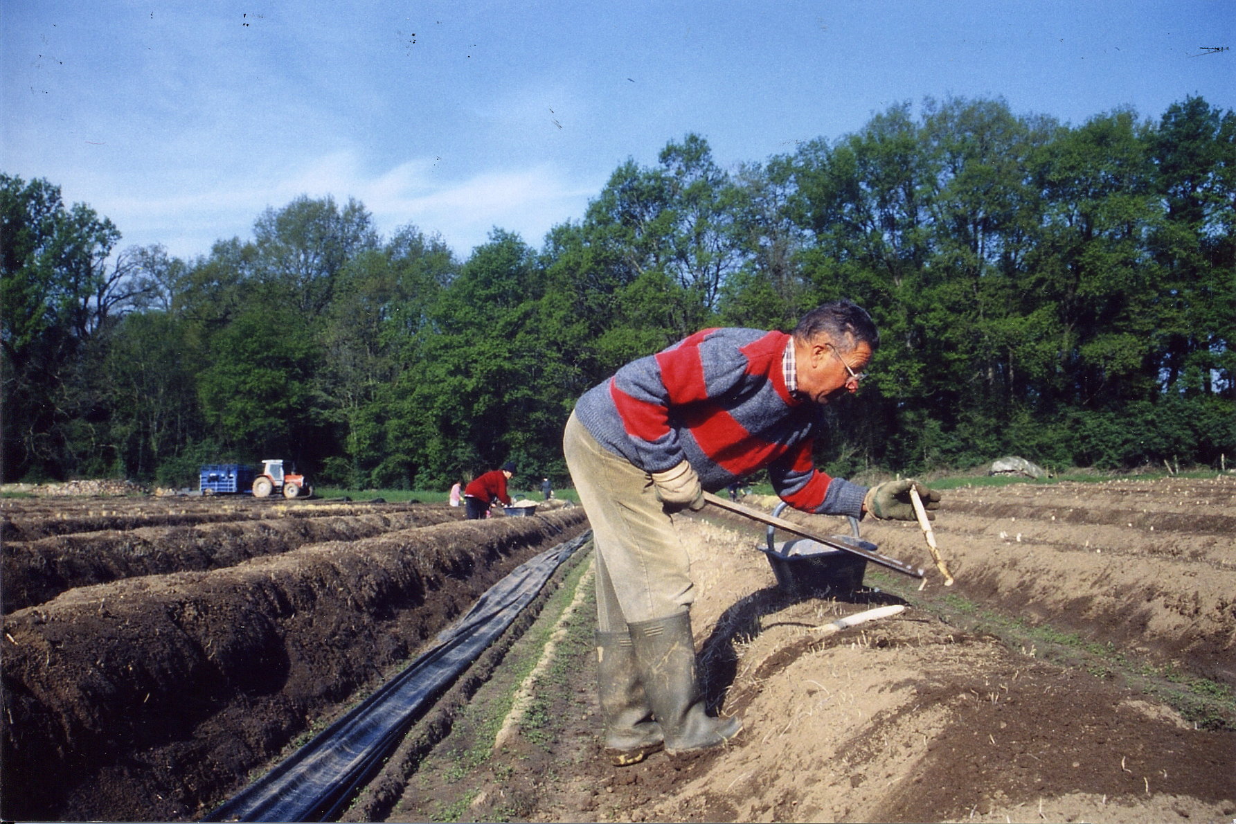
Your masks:
[[[2,815],[200,815],[515,566],[585,528],[577,508],[444,523],[78,587],[16,610],[4,620]]]

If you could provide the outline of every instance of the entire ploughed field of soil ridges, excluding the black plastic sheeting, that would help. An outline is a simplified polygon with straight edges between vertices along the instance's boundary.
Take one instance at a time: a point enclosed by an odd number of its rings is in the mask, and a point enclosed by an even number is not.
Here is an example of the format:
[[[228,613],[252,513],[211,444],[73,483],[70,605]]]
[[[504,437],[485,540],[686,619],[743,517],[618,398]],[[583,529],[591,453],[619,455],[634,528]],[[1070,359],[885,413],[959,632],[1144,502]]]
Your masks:
[[[483,523],[240,499],[0,511],[2,814],[19,819],[203,815],[587,528],[578,508]],[[947,589],[916,525],[865,523],[927,568],[921,592],[869,567],[857,594],[791,598],[755,551],[763,528],[712,509],[680,523],[707,694],[744,719],[733,742],[601,757],[581,550],[582,577],[556,579],[570,608],[482,656],[344,820],[1236,818],[1236,477],[949,490]],[[884,604],[907,608],[817,630]],[[520,684],[534,709],[477,720]]]

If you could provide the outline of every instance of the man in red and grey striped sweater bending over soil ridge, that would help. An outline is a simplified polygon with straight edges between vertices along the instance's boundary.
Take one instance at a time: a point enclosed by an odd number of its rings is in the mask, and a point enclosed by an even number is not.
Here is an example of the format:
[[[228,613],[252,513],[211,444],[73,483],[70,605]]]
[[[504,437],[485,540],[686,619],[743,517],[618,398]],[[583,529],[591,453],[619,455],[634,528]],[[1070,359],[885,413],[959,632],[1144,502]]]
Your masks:
[[[873,488],[815,468],[819,405],[858,392],[879,346],[865,310],[842,300],[792,335],[709,329],[618,369],[586,392],[564,434],[566,463],[596,542],[597,656],[606,747],[616,765],[662,746],[714,746],[738,718],[706,713],[696,677],[684,509],[766,468],[782,500],[808,513],[915,520],[915,481]]]

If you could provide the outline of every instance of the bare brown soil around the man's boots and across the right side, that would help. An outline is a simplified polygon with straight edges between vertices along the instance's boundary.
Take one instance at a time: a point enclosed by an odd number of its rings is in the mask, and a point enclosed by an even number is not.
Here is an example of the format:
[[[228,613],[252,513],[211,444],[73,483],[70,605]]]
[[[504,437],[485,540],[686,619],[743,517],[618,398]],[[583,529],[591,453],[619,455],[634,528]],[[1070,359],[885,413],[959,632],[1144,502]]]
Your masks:
[[[932,572],[918,593],[869,572],[884,592],[839,600],[787,598],[751,551],[760,531],[695,519],[684,530],[696,639],[709,694],[744,719],[735,741],[609,766],[580,626],[576,649],[559,652],[576,677],[538,687],[555,696],[550,720],[461,778],[457,763],[426,760],[387,820],[1230,822],[1231,693],[1206,729],[1107,665],[1145,660],[1231,687],[1234,500],[1231,478],[950,492],[936,530],[954,587]],[[865,536],[931,570],[917,528]],[[910,607],[837,635],[815,629],[883,603]],[[997,608],[1021,619],[1022,644],[973,629],[970,613]],[[1099,657],[1047,660],[1047,635],[1044,649],[1033,640],[1047,623]]]

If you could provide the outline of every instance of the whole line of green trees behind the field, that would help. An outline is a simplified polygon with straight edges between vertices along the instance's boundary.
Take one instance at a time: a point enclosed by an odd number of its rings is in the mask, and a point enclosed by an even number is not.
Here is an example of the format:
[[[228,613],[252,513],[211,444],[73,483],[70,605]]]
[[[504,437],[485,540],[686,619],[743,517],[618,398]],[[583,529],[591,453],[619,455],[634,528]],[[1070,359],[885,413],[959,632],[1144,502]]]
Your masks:
[[[733,169],[687,135],[540,250],[494,229],[465,261],[329,196],[193,261],[117,252],[42,179],[0,175],[0,221],[6,481],[562,482],[562,424],[618,366],[839,296],[884,345],[824,410],[836,473],[1236,455],[1236,115],[1200,98],[1080,126],[927,100]]]

